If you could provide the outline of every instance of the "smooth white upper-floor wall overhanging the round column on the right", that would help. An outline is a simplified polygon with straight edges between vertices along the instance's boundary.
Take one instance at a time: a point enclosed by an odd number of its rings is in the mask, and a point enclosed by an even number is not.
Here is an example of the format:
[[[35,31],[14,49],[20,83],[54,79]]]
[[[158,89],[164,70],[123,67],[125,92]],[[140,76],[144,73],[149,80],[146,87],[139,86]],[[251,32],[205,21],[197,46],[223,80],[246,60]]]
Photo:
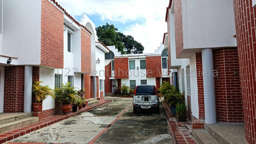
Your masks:
[[[232,0],[184,0],[182,21],[184,49],[236,46]]]

